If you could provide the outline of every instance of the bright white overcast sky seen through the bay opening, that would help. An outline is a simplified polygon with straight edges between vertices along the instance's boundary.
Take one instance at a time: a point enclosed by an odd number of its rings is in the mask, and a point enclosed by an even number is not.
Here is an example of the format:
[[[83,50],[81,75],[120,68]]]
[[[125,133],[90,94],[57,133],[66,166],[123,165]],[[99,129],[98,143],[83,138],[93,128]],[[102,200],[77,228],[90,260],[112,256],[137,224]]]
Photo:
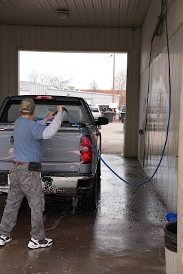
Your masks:
[[[112,53],[58,53],[42,51],[20,52],[20,80],[29,81],[27,75],[32,70],[63,79],[72,79],[69,86],[79,89],[90,88],[95,80],[99,89],[112,88]],[[115,54],[115,74],[126,71],[127,54]]]

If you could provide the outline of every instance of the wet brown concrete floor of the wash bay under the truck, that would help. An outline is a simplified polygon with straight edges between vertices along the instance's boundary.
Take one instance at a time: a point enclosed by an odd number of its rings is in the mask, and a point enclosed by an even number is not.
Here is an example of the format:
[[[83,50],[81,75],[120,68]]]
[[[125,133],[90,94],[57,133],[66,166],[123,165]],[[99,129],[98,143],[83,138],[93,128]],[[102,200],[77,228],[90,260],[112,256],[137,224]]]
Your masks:
[[[144,181],[138,160],[102,155],[133,184]],[[0,218],[5,196],[0,195]],[[1,274],[163,274],[166,209],[151,184],[132,188],[101,164],[97,213],[80,212],[77,199],[47,197],[45,232],[54,243],[28,249],[30,212],[19,210],[12,242],[0,247]]]

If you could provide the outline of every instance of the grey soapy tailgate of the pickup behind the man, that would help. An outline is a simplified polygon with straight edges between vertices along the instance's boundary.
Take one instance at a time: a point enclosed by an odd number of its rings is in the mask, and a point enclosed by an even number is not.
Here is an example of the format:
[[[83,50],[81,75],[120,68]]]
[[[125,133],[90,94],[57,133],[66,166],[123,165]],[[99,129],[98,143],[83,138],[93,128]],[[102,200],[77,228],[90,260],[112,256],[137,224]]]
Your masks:
[[[63,127],[52,138],[42,140],[42,171],[80,172],[80,138],[81,134],[76,127]],[[1,129],[1,171],[10,170],[13,153],[13,130]]]

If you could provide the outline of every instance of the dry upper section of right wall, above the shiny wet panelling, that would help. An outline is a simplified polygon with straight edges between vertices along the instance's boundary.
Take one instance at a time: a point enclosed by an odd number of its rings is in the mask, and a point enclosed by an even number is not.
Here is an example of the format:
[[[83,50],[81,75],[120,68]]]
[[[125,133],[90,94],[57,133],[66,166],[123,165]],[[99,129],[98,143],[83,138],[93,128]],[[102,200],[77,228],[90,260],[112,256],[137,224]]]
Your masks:
[[[169,0],[168,1],[167,25],[169,29],[169,39],[175,36],[176,32],[182,27],[183,23],[183,1]],[[145,22],[143,24],[142,40],[141,40],[141,73],[149,66],[151,38],[154,34],[156,23],[158,23],[158,16],[161,12],[161,1],[151,1],[151,5],[147,12]],[[165,19],[165,10],[163,12]],[[152,42],[151,60],[156,58],[162,49],[166,47],[166,29],[165,21],[163,23],[162,35],[156,36]]]

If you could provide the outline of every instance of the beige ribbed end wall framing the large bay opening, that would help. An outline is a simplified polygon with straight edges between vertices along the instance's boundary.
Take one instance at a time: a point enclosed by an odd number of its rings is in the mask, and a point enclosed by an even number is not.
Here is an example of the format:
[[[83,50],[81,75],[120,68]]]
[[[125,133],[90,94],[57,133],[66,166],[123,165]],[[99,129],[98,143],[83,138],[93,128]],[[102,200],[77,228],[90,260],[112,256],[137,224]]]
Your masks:
[[[18,94],[18,51],[127,52],[125,156],[137,157],[141,30],[0,26],[0,102]]]

